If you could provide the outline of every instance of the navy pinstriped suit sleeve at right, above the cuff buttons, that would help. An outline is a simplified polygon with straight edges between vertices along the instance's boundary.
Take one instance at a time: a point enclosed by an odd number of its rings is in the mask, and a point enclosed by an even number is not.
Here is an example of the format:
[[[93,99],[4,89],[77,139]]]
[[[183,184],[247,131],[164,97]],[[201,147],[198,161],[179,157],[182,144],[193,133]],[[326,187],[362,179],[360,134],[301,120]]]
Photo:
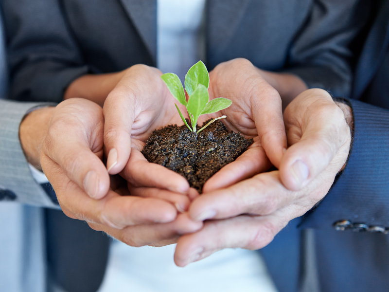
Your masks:
[[[389,227],[389,110],[350,101],[354,142],[347,166],[303,228],[331,228],[339,220]]]

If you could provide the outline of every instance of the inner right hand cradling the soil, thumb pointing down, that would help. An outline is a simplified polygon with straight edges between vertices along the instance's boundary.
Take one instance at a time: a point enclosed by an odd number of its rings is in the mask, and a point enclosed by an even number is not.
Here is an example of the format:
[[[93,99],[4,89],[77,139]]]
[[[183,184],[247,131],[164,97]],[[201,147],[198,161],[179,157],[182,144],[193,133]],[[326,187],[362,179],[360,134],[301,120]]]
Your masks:
[[[215,115],[226,115],[226,126],[254,143],[234,162],[205,183],[203,192],[227,187],[279,166],[286,148],[282,102],[278,91],[265,81],[248,60],[221,63],[210,73],[210,98],[225,97],[232,105]],[[270,160],[270,161],[269,161]],[[270,163],[271,162],[271,163]]]

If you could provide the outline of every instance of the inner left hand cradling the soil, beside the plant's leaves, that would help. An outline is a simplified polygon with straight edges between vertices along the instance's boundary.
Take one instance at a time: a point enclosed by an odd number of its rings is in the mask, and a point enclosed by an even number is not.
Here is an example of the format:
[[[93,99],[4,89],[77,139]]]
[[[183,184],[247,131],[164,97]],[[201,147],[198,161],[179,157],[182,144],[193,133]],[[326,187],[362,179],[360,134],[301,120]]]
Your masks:
[[[195,198],[184,177],[159,164],[148,163],[141,154],[152,131],[168,124],[182,125],[176,100],[152,67],[135,65],[111,91],[104,104],[104,145],[110,174],[120,173],[133,195],[188,194]],[[177,102],[176,102],[177,103]],[[181,108],[184,112],[184,109]],[[177,206],[178,210],[182,206]]]

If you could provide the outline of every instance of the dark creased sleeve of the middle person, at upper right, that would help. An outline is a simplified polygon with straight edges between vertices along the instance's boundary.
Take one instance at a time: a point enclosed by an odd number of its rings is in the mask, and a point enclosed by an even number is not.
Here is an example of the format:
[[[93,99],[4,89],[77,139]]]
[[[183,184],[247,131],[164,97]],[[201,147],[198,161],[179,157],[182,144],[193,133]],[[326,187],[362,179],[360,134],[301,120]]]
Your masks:
[[[371,3],[361,0],[315,0],[294,38],[283,72],[299,76],[308,88],[350,96],[352,41],[369,18]]]

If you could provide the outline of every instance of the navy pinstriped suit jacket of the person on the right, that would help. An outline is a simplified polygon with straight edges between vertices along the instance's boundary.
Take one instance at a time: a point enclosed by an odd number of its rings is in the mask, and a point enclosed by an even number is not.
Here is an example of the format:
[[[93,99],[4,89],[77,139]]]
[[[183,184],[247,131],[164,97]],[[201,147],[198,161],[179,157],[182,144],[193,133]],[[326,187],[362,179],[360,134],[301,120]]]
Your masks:
[[[262,250],[280,291],[295,292],[301,285],[304,238],[296,231],[296,225],[298,230],[314,230],[315,272],[320,291],[389,291],[389,237],[381,232],[367,232],[364,226],[378,227],[375,230],[389,227],[387,0],[378,7],[357,63],[352,98],[354,142],[344,172],[315,210],[291,222]],[[338,220],[353,225],[336,231],[334,223]]]

